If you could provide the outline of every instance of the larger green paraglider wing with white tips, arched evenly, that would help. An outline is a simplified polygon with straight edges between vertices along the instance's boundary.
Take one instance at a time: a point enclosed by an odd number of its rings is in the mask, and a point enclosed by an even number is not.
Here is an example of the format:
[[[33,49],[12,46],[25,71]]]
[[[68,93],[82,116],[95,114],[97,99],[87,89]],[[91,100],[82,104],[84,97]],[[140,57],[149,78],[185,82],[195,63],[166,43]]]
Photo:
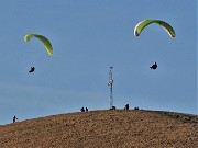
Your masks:
[[[169,36],[172,38],[176,37],[176,33],[174,31],[174,29],[166,22],[161,21],[161,20],[143,20],[140,23],[136,24],[135,29],[134,29],[134,35],[139,36],[141,34],[141,32],[144,30],[144,27],[146,27],[147,25],[152,24],[152,23],[156,23],[158,25],[161,25],[162,27],[164,27],[164,30],[169,34]]]

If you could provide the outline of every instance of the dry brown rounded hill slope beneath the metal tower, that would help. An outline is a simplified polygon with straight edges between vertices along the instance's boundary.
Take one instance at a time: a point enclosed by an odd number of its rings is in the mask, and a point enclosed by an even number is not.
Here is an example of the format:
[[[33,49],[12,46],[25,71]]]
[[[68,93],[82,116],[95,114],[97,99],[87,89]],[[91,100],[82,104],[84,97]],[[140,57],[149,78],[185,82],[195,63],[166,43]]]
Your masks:
[[[198,116],[144,110],[69,113],[0,126],[0,148],[198,148]]]

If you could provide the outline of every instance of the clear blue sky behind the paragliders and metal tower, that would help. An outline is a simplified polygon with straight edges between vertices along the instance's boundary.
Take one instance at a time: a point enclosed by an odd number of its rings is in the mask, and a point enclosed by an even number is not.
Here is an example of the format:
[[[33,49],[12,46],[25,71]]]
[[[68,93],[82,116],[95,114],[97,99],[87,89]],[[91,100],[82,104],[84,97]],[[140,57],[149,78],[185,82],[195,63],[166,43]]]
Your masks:
[[[134,36],[144,19],[168,22],[176,39],[156,24]],[[117,107],[197,114],[196,0],[7,0],[0,22],[0,125],[109,109],[110,66]],[[46,36],[54,55],[25,43],[29,33]]]

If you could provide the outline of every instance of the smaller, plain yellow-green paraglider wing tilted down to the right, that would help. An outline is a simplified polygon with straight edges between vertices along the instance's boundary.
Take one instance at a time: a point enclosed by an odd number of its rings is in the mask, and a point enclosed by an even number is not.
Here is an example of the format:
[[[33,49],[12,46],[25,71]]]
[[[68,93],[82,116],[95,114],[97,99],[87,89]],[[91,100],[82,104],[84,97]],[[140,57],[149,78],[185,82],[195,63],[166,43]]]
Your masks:
[[[47,50],[48,55],[51,55],[51,56],[53,55],[52,44],[46,37],[44,37],[43,35],[38,35],[38,34],[28,34],[28,35],[25,35],[24,41],[29,42],[32,37],[38,38],[45,46],[45,49]]]

